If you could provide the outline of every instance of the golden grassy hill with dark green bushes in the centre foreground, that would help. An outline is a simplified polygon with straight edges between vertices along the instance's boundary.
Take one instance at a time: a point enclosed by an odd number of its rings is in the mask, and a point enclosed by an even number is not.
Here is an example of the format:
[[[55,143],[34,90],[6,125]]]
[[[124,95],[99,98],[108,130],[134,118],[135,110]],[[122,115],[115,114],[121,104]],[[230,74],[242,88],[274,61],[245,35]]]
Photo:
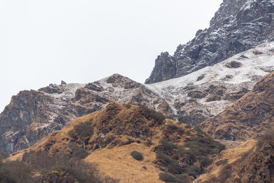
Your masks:
[[[164,119],[160,112],[110,102],[8,160],[27,163],[39,154],[62,154],[97,164],[101,174],[120,182],[190,182],[222,149],[224,145],[201,130]]]

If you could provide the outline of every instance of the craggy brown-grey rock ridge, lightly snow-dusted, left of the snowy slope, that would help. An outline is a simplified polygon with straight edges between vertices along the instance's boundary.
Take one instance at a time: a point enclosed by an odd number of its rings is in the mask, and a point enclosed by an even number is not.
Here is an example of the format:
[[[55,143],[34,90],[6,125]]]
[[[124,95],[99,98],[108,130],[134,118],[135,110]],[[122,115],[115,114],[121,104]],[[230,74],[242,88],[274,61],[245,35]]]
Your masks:
[[[90,84],[50,84],[38,91],[22,91],[0,114],[0,147],[10,154],[40,141],[47,134],[61,130],[77,117],[104,108],[110,101],[162,106],[169,105],[142,84],[127,77],[112,75]]]

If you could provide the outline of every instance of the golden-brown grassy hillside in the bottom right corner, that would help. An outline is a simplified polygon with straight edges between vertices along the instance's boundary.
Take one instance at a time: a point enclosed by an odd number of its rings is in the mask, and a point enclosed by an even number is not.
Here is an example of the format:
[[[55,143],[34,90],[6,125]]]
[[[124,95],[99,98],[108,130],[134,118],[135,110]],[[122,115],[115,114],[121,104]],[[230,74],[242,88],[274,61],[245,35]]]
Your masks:
[[[194,182],[273,182],[273,132],[268,130],[258,141],[250,140],[222,151],[207,173]]]

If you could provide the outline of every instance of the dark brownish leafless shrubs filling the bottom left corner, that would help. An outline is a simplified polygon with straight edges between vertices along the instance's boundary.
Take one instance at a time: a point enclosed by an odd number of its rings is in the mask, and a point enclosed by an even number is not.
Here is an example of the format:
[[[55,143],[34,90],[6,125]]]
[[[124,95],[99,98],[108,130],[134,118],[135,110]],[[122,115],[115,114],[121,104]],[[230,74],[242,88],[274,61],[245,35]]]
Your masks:
[[[58,180],[56,177],[52,177],[52,171],[59,173]],[[33,172],[40,174],[33,176]],[[70,180],[71,178],[73,180]],[[55,156],[49,156],[46,153],[25,154],[23,161],[20,162],[6,161],[3,163],[0,161],[0,182],[51,182],[51,179],[55,181],[66,180],[66,182],[73,182],[74,180],[90,183],[116,182],[110,178],[105,178],[107,181],[101,180],[95,164],[69,158],[64,154],[56,154]]]

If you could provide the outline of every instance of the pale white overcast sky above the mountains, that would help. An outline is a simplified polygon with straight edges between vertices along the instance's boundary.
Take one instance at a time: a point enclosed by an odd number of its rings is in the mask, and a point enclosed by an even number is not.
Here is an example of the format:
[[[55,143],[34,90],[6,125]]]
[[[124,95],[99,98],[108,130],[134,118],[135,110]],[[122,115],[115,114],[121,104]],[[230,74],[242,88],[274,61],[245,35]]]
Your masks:
[[[209,27],[221,0],[1,0],[0,112],[20,90],[120,73],[145,82],[162,51]]]

